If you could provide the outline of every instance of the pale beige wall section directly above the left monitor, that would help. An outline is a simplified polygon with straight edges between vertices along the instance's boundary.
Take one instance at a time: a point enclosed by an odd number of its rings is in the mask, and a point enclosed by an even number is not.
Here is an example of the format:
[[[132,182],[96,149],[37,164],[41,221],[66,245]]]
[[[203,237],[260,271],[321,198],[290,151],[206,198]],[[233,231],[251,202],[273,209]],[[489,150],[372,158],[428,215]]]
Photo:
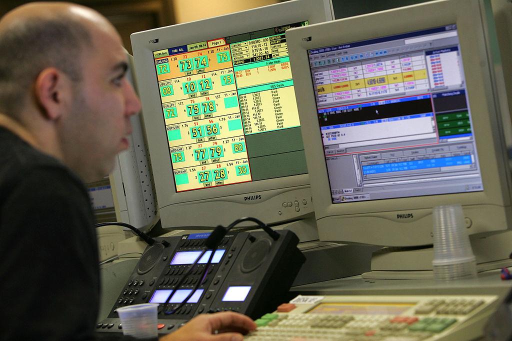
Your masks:
[[[272,5],[278,0],[174,0],[176,23],[210,18],[246,9]]]

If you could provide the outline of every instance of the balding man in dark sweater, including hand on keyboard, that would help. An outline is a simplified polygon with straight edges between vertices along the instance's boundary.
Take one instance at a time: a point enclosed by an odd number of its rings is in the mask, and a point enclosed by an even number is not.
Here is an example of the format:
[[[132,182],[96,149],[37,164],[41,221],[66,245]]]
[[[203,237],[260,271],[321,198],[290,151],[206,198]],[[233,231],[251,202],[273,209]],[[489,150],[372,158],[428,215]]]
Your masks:
[[[118,33],[89,8],[32,3],[0,20],[0,340],[98,336],[83,182],[108,174],[128,146],[140,102],[126,69]],[[219,313],[163,339],[236,340],[254,328]]]

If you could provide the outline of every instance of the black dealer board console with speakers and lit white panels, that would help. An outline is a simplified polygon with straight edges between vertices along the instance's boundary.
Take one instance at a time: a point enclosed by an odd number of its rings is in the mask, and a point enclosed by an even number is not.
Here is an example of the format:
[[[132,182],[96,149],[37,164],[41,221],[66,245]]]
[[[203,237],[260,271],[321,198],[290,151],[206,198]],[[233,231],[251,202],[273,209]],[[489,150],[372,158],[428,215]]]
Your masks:
[[[209,233],[181,237],[156,238],[148,246],[122,288],[109,315],[96,325],[98,332],[122,332],[116,313],[119,307],[159,303],[159,333],[178,329],[200,313],[238,311],[257,318],[274,311],[286,297],[295,276],[305,261],[297,248],[298,238],[292,231],[276,231],[273,240],[266,232],[227,233],[211,259],[211,266],[195,293],[174,313],[202,279],[211,255],[208,250],[196,268],[176,285],[188,267],[200,257]],[[165,247],[162,240],[169,242]],[[170,296],[169,303],[165,304]]]

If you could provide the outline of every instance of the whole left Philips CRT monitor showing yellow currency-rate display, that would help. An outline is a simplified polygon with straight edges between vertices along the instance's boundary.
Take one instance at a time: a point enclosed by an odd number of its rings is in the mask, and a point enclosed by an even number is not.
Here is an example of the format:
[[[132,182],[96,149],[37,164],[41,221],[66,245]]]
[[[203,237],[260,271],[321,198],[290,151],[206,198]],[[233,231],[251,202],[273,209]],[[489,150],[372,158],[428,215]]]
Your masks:
[[[332,13],[296,0],[132,34],[163,227],[312,214],[284,32]]]

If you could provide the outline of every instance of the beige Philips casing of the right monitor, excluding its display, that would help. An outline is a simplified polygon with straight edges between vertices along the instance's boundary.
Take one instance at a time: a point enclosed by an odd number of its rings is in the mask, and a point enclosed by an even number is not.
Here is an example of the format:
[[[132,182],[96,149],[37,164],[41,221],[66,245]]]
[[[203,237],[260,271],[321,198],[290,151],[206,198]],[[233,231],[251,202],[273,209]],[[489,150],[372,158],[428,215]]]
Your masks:
[[[491,51],[488,30],[494,23],[487,22],[486,6],[478,0],[437,1],[287,31],[295,92],[301,94],[296,96],[299,115],[307,127],[302,132],[321,240],[392,246],[431,244],[432,207],[456,203],[464,207],[470,234],[507,228],[512,218],[510,171],[499,127],[501,115],[508,113],[507,108],[499,109],[493,89],[496,60],[487,53]],[[484,190],[333,204],[307,50],[451,24],[457,24]],[[478,95],[482,88],[484,95]],[[403,219],[403,214],[411,216]]]

